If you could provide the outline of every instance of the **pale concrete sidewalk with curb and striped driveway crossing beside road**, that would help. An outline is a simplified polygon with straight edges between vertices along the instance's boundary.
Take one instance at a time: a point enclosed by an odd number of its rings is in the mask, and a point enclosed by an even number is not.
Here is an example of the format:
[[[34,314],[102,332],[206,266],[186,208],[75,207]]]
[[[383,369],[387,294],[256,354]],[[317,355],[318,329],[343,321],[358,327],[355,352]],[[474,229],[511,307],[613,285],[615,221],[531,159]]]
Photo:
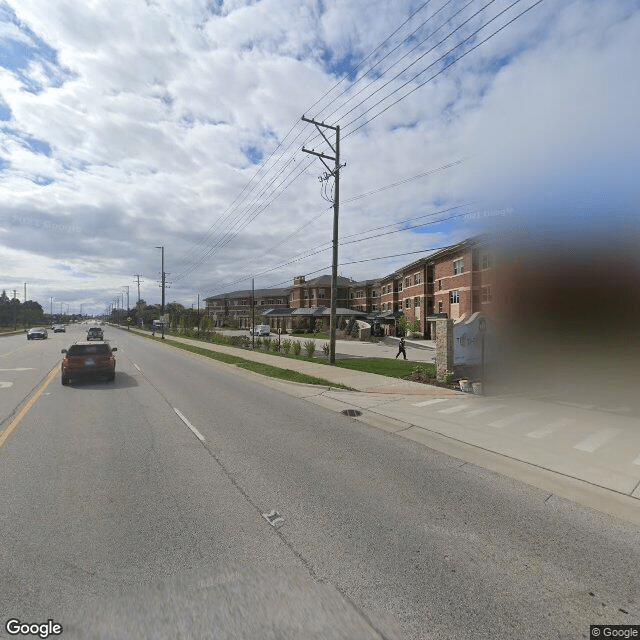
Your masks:
[[[640,524],[637,416],[513,396],[474,396],[260,351],[170,339],[345,385],[354,391],[259,376],[326,410],[346,412],[360,422]]]

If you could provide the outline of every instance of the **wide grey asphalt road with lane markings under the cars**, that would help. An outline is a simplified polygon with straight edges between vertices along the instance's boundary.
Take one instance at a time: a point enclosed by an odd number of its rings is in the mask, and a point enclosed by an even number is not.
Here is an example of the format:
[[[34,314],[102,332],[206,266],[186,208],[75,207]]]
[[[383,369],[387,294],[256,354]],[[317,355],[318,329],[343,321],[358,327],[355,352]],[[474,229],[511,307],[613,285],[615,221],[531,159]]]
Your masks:
[[[640,623],[636,527],[105,333],[116,381],[70,387],[46,382],[79,329],[0,339],[0,634],[10,618],[52,619],[63,638],[588,638]]]

